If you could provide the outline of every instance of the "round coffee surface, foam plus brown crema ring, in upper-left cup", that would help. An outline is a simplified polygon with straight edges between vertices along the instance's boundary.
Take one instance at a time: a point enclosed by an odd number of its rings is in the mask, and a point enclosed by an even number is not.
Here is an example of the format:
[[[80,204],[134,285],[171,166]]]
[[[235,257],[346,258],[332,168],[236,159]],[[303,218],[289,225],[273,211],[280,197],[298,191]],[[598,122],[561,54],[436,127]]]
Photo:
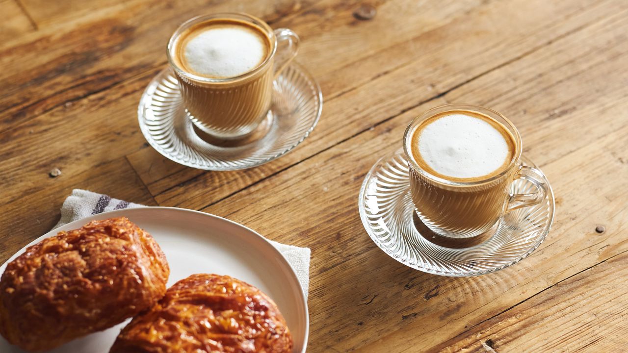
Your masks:
[[[259,67],[271,42],[262,28],[237,19],[210,19],[181,33],[173,58],[183,70],[209,79],[229,79]]]

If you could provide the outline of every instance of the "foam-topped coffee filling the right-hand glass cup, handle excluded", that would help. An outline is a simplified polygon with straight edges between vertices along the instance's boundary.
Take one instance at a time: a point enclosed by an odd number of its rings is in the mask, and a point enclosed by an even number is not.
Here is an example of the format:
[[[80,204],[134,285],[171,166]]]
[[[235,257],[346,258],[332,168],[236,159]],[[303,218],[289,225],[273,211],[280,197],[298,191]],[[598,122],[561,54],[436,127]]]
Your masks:
[[[519,144],[509,129],[480,112],[452,110],[406,134],[406,151],[419,167],[410,163],[411,195],[425,225],[448,237],[488,231],[504,213],[516,173]]]

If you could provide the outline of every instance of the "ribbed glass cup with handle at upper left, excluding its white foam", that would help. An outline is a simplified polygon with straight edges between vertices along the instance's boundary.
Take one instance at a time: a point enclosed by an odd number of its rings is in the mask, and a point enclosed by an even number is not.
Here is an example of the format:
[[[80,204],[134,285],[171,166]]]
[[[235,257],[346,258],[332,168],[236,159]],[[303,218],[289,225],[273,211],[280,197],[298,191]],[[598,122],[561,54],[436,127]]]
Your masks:
[[[206,21],[249,23],[268,38],[268,55],[256,68],[237,77],[214,79],[185,70],[177,58],[183,33]],[[279,44],[285,43],[278,50]],[[185,112],[198,129],[220,139],[240,139],[252,133],[269,114],[273,80],[295,57],[299,38],[291,30],[274,30],[264,21],[244,13],[217,13],[192,18],[173,33],[168,62],[181,89]]]

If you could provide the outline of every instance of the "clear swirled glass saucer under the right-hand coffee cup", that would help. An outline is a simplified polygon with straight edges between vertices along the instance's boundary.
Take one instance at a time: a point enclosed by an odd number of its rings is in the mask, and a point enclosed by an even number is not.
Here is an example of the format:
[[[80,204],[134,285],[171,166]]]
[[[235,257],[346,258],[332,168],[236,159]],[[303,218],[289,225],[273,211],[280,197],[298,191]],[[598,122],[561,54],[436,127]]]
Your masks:
[[[524,156],[521,161],[534,166]],[[512,192],[534,192],[534,187],[519,179],[512,183]],[[408,162],[401,149],[375,163],[364,178],[358,202],[364,228],[384,253],[441,276],[476,276],[516,264],[541,245],[554,219],[550,186],[541,204],[509,212],[474,244],[438,236],[414,213]]]

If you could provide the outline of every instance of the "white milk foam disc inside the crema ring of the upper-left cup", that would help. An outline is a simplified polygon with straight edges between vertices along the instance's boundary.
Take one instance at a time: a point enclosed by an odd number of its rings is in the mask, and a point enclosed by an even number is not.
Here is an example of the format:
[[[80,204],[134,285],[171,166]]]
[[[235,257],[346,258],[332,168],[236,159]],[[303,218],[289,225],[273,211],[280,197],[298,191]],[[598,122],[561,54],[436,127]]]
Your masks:
[[[241,26],[208,27],[185,45],[186,66],[216,78],[236,77],[251,71],[266,57],[263,38]]]

